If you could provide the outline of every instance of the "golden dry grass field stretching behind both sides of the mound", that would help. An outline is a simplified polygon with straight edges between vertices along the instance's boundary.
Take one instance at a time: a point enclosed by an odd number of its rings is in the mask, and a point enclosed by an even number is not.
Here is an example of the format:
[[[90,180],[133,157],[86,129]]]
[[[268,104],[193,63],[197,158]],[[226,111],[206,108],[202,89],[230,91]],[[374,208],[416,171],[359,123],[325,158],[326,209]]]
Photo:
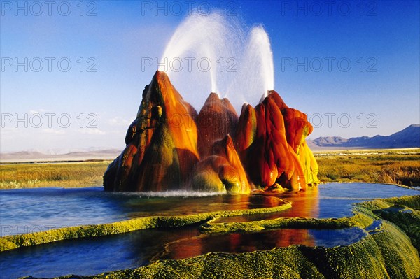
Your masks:
[[[318,178],[327,182],[420,186],[420,149],[314,152]],[[111,161],[0,164],[0,189],[102,185]]]

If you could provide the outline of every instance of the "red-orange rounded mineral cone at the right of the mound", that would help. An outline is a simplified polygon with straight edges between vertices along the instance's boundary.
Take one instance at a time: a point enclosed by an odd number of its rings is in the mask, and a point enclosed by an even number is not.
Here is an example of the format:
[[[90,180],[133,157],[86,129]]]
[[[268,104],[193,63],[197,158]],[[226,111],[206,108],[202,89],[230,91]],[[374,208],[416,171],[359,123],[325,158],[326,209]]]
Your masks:
[[[305,189],[309,178],[307,171],[318,169],[311,165],[311,153],[304,145],[304,138],[311,131],[306,115],[288,108],[275,91],[269,92],[255,109],[244,106],[235,143],[252,182],[263,189],[275,183]],[[304,146],[302,150],[301,146]],[[315,183],[314,173],[310,173],[310,177],[311,183]]]

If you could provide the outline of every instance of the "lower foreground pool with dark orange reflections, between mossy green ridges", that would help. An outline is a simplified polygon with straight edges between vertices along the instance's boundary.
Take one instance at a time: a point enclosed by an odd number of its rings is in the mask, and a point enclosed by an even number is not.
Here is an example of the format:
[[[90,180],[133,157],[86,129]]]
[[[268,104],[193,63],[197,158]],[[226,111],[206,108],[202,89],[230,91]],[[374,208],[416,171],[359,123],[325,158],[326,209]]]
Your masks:
[[[149,264],[151,259],[183,259],[207,252],[251,252],[293,244],[333,247],[358,241],[365,231],[273,229],[246,234],[198,236],[197,227],[145,229],[129,234],[59,241],[1,252],[1,278],[93,275]],[[165,243],[169,243],[165,250]]]

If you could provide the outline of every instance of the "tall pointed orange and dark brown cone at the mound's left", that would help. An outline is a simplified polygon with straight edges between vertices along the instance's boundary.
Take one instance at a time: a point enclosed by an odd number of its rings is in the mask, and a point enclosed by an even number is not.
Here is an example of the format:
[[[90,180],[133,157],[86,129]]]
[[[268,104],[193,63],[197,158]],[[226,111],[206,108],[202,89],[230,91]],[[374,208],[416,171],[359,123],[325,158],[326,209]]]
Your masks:
[[[198,162],[197,112],[183,100],[164,72],[157,71],[143,92],[123,153],[104,175],[111,191],[179,189]]]

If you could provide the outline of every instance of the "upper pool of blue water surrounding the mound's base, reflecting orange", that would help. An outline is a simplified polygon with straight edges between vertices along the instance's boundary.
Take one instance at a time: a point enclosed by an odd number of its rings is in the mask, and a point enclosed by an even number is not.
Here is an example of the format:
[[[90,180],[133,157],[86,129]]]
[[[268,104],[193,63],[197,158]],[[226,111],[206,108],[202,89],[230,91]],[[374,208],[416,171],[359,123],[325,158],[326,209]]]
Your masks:
[[[109,193],[102,191],[102,187],[3,190],[0,192],[0,234],[23,234],[53,227],[109,223],[150,215],[186,215],[281,204],[274,196],[202,196],[202,193],[191,192],[169,194],[151,196]],[[393,185],[328,183],[309,187],[307,192],[284,194],[281,199],[293,204],[292,208],[284,212],[227,219],[244,221],[276,217],[342,217],[351,214],[351,204],[354,202],[405,194],[420,192]]]

